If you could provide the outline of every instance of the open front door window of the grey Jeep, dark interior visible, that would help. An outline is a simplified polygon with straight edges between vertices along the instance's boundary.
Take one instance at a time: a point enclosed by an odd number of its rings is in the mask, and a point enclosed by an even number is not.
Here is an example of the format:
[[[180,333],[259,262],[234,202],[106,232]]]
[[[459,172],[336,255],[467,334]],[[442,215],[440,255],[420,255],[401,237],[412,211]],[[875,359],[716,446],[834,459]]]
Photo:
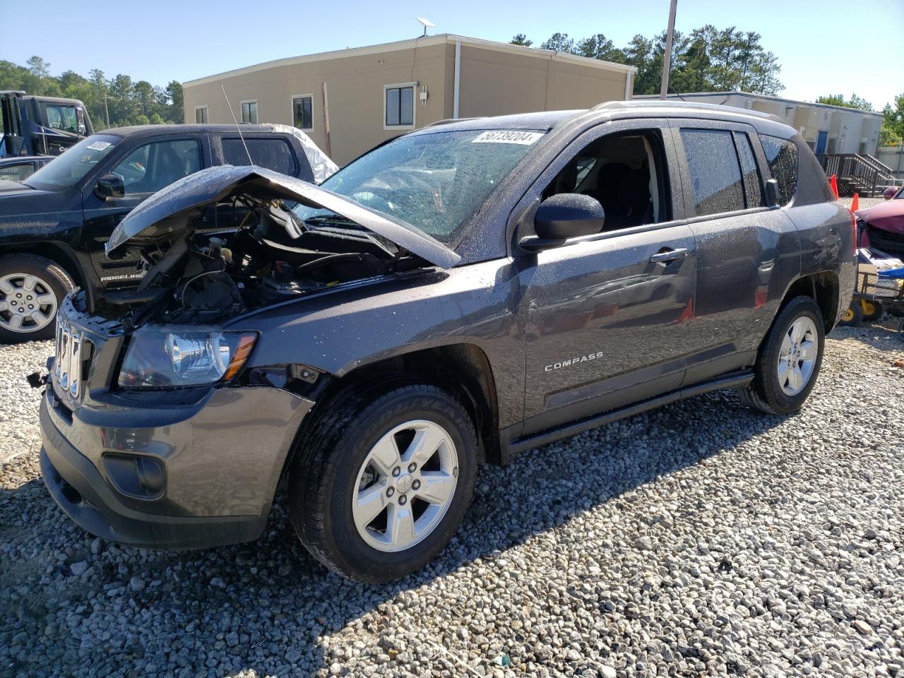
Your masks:
[[[606,212],[604,231],[672,218],[663,142],[654,130],[611,134],[582,148],[546,187],[542,198],[582,193]]]

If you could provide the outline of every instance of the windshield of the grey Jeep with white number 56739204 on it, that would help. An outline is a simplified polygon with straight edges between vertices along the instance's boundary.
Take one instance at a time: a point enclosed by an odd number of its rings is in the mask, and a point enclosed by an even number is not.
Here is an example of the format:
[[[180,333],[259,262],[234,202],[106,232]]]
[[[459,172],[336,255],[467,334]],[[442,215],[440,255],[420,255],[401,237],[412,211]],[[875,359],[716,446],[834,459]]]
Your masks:
[[[363,155],[321,185],[449,244],[543,134],[469,129],[408,135]],[[304,205],[293,212],[308,226],[346,221]]]

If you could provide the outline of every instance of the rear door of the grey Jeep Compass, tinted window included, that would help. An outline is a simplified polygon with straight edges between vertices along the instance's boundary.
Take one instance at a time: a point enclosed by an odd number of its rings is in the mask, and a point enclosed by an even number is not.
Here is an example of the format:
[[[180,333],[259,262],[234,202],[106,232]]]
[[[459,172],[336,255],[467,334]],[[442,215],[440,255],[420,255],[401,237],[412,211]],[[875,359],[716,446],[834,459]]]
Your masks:
[[[787,285],[800,270],[794,225],[767,206],[766,166],[753,127],[714,120],[672,122],[686,204],[697,242],[697,299],[685,383],[756,359]]]

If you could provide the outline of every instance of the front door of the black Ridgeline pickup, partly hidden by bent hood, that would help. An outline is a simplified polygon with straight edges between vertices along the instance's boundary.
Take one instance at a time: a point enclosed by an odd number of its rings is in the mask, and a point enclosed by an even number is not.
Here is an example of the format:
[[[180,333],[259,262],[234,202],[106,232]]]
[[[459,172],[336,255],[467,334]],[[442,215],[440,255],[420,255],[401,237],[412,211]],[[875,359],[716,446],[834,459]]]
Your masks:
[[[116,174],[125,184],[121,198],[104,200],[94,193],[96,180],[82,189],[84,227],[82,238],[89,251],[100,284],[105,288],[131,287],[143,276],[137,270],[138,251],[127,248],[116,259],[108,259],[104,244],[119,221],[137,205],[161,188],[193,174],[210,162],[207,136],[193,135],[147,137],[135,143],[121,144],[117,155],[106,158],[105,167],[97,174]],[[215,223],[213,212],[206,228]],[[205,228],[205,227],[202,227]]]

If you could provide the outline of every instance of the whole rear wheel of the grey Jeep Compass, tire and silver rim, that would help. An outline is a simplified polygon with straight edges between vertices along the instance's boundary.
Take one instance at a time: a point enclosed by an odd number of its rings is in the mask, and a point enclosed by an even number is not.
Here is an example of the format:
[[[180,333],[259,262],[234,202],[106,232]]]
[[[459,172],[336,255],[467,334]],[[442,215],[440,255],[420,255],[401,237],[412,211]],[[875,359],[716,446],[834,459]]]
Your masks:
[[[813,298],[795,297],[788,302],[760,344],[753,381],[740,391],[741,398],[767,414],[786,415],[799,410],[813,390],[823,363],[824,327],[823,314]],[[795,328],[804,330],[796,338]],[[808,356],[812,359],[807,360]],[[783,367],[785,371],[780,372]]]

